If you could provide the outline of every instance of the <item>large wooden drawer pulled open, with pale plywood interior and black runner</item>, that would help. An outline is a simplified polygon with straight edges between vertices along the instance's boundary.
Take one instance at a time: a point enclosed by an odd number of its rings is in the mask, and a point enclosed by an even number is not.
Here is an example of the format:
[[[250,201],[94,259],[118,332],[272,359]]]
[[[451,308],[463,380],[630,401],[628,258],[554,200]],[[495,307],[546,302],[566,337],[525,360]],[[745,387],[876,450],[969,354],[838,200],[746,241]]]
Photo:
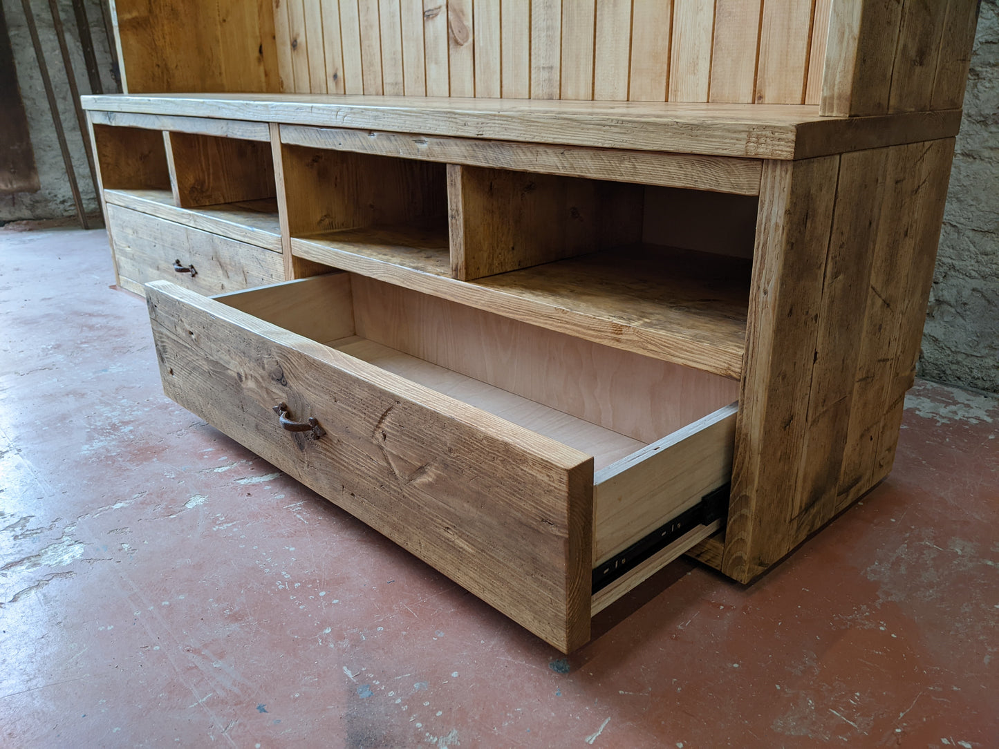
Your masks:
[[[170,397],[563,652],[727,508],[734,380],[348,273],[146,290]]]

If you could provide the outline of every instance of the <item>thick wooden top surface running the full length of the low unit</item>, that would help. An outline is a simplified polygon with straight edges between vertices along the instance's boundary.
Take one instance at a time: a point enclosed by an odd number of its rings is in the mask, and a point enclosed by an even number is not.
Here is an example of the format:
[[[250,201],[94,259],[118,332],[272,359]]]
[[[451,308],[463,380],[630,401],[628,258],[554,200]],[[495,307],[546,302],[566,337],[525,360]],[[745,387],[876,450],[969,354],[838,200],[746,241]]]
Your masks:
[[[840,118],[789,104],[321,94],[118,94],[82,101],[85,109],[105,112],[782,160],[948,138],[961,116],[945,110]]]

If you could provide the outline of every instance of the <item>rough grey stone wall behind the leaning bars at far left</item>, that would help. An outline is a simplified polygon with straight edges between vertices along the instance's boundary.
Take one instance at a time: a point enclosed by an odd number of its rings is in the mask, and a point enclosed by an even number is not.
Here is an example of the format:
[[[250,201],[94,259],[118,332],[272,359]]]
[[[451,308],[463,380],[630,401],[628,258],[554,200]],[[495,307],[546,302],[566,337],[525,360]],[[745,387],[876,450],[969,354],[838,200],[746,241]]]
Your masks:
[[[37,193],[16,193],[0,195],[0,223],[18,221],[21,219],[52,219],[64,216],[75,216],[73,196],[70,192],[69,180],[66,177],[66,167],[63,165],[62,152],[56,138],[52,116],[49,114],[49,103],[45,97],[42,76],[39,73],[35,59],[35,50],[28,34],[24,10],[20,0],[0,0],[3,4],[4,16],[7,19],[7,30],[10,34],[11,47],[14,50],[14,65],[17,68],[18,84],[21,87],[21,98],[28,116],[28,129],[31,132],[31,145],[35,152],[35,164],[38,167],[38,178],[41,190]],[[118,89],[111,75],[111,54],[108,49],[107,34],[104,30],[104,17],[101,14],[99,0],[86,0],[87,20],[90,34],[94,40],[94,54],[97,57],[101,83],[106,93],[117,93]],[[63,28],[66,33],[66,44],[70,50],[73,69],[76,72],[77,86],[81,94],[89,94],[90,85],[87,79],[87,68],[83,62],[83,53],[77,37],[76,17],[73,14],[73,4],[70,0],[58,2]],[[49,77],[55,90],[56,101],[59,103],[59,114],[63,129],[66,131],[66,141],[69,143],[76,172],[77,183],[83,196],[83,204],[90,215],[100,214],[97,196],[94,194],[90,171],[87,167],[87,157],[84,142],[77,126],[73,102],[69,94],[69,83],[63,67],[62,55],[59,53],[59,42],[56,40],[52,25],[52,15],[49,12],[47,0],[31,0],[31,9],[38,25],[38,36],[45,51],[45,62],[49,69]]]

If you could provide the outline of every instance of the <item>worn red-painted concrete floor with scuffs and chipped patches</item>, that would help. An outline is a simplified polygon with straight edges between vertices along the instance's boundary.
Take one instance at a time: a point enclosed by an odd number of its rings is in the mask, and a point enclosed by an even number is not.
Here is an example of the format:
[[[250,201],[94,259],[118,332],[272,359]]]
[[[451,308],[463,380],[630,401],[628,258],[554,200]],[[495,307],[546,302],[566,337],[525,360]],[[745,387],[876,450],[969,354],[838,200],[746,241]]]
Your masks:
[[[163,396],[102,232],[0,231],[0,745],[999,746],[999,402],[749,587],[680,560],[562,659]]]

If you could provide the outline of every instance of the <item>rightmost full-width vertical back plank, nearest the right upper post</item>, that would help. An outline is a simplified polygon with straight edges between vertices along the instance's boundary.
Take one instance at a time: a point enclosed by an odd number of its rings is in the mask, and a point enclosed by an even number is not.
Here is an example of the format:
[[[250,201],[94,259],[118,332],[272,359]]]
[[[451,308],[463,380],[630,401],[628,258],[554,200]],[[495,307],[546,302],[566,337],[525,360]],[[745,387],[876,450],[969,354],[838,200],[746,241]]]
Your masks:
[[[814,0],[764,0],[756,72],[757,103],[804,102],[813,4]]]

